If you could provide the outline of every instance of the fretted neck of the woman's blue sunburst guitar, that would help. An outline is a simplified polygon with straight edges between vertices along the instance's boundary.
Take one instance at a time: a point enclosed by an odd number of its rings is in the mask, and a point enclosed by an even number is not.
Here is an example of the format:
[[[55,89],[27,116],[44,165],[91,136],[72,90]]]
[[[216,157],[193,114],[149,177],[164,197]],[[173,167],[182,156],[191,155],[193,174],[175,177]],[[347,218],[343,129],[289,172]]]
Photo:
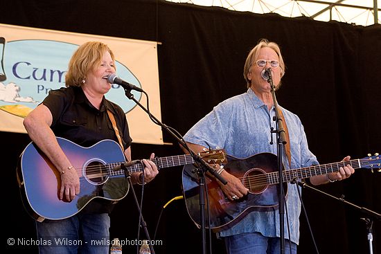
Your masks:
[[[177,155],[177,156],[167,156],[167,157],[157,157],[157,158],[152,158],[148,161],[152,161],[157,165],[157,169],[165,168],[165,167],[175,167],[175,166],[180,166],[180,165],[187,165],[187,164],[192,164],[195,163],[195,160],[190,154],[182,154],[182,155]],[[107,167],[109,168],[109,174],[112,176],[115,175],[120,175],[120,174],[125,174],[124,170],[116,170],[114,171],[113,168],[125,163],[125,161],[120,162],[120,163],[109,163],[107,164]],[[131,165],[129,167],[126,167],[128,172],[134,173],[134,172],[142,172],[144,169],[143,163],[136,163],[135,165]]]

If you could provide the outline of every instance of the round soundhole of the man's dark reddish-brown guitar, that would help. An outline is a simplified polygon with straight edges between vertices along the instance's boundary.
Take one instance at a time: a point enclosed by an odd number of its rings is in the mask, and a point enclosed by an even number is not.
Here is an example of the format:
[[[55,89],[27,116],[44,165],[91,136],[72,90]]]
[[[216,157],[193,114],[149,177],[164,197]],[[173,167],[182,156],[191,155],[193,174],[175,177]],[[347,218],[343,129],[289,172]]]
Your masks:
[[[249,189],[251,194],[263,193],[267,187],[266,172],[259,168],[248,170],[243,176],[243,185]]]

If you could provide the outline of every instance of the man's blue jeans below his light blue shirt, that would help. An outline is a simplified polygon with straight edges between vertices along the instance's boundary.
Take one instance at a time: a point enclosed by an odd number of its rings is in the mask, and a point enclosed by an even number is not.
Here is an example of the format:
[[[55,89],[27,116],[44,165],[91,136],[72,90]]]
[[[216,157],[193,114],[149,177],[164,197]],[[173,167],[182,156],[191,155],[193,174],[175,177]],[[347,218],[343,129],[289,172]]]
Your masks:
[[[223,237],[229,254],[278,254],[281,238],[264,237],[260,233],[242,233]],[[291,244],[291,251],[290,251]],[[296,254],[296,244],[285,239],[285,254]]]

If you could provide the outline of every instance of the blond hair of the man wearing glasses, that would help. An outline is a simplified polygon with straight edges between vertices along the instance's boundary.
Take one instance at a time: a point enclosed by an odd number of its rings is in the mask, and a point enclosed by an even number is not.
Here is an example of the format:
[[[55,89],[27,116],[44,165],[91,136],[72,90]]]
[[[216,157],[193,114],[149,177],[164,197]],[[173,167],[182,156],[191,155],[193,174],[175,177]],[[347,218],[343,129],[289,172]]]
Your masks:
[[[276,52],[276,54],[279,57],[279,68],[281,68],[281,78],[283,77],[283,75],[285,75],[285,62],[283,62],[281,48],[279,48],[278,44],[276,44],[275,42],[269,42],[267,39],[260,39],[258,44],[256,44],[256,46],[253,49],[251,49],[249,55],[247,55],[245,66],[243,68],[243,77],[247,82],[247,88],[251,87],[251,81],[247,79],[247,74],[250,71],[251,64],[253,64],[253,61],[257,59],[260,48],[265,47],[272,48]],[[280,87],[280,85],[281,84],[278,84],[278,87]]]

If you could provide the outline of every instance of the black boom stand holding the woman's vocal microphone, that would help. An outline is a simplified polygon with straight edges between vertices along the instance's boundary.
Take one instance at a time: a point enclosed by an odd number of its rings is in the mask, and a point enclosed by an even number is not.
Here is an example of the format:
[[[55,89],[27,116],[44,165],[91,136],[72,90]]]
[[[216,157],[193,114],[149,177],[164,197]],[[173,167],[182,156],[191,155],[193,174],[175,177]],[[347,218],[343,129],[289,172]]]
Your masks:
[[[202,230],[202,253],[206,253],[204,192],[207,190],[205,188],[204,172],[208,171],[213,176],[215,176],[215,178],[218,179],[218,181],[220,181],[223,184],[227,184],[227,181],[220,174],[217,173],[217,170],[214,170],[213,167],[211,167],[211,165],[206,163],[206,161],[200,155],[195,154],[195,152],[193,152],[193,150],[190,149],[188,147],[188,145],[186,145],[184,139],[182,139],[177,134],[175,134],[172,130],[170,130],[167,125],[164,125],[163,123],[161,123],[155,116],[153,116],[150,113],[150,111],[148,111],[148,109],[146,109],[143,105],[141,105],[141,103],[139,101],[137,101],[134,98],[134,95],[131,93],[132,89],[127,88],[127,87],[123,87],[123,89],[125,89],[125,96],[127,96],[127,98],[129,98],[130,100],[133,100],[136,103],[136,105],[139,105],[139,107],[141,107],[141,109],[143,109],[148,114],[148,116],[150,116],[151,120],[155,124],[160,125],[162,129],[165,129],[166,131],[168,131],[168,133],[173,138],[175,138],[177,140],[177,142],[189,152],[190,156],[192,156],[195,163],[197,163],[197,165],[199,165],[197,167],[197,173],[200,177],[200,184],[199,185],[200,185],[200,218],[201,218],[201,230]],[[143,91],[143,93],[145,93],[145,91]],[[147,93],[145,93],[145,95],[147,95]],[[203,172],[201,172],[200,170],[203,170]],[[148,233],[146,233],[146,234],[148,234]],[[150,244],[150,248],[152,249],[151,244]]]

